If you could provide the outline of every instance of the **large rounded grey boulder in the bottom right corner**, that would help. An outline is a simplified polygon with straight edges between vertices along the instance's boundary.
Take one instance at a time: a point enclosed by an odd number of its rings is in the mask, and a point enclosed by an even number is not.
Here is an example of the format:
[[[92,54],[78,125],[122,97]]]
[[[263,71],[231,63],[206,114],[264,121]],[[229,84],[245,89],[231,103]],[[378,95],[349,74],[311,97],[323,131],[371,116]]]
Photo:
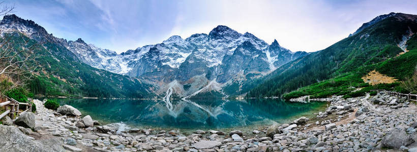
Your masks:
[[[382,138],[381,142],[383,147],[398,149],[401,146],[413,143],[414,139],[407,135],[405,131],[394,128]]]

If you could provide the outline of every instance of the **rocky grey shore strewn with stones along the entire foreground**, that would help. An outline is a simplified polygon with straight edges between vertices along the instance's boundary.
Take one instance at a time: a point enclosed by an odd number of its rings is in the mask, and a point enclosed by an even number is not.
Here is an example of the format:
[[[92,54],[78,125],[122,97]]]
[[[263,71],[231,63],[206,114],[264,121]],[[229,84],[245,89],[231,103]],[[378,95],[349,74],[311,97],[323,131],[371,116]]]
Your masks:
[[[3,121],[11,126],[0,125],[0,151],[417,151],[414,103],[383,93],[323,100],[331,105],[310,120],[302,117],[251,135],[197,130],[188,136],[100,126],[71,106],[54,111],[35,100],[36,115],[22,113],[14,124]]]

